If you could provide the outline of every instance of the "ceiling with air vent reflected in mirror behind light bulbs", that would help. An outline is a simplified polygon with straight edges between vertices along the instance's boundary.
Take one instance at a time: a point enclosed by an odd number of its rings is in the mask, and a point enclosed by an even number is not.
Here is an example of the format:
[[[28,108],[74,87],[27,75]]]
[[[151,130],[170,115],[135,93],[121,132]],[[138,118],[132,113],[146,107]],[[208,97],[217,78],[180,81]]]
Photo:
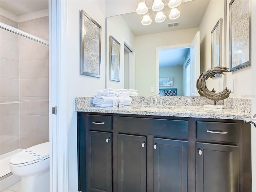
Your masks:
[[[149,9],[150,18],[152,19],[152,23],[148,26],[144,26],[141,24],[142,15],[137,14],[136,12],[122,14],[122,18],[125,20],[126,24],[129,26],[130,30],[134,34],[134,36],[153,34],[159,32],[167,32],[171,30],[181,30],[187,28],[195,28],[199,27],[202,18],[204,17],[204,13],[209,4],[210,0],[192,0],[189,2],[184,2],[178,6],[178,10],[180,10],[180,17],[176,20],[170,20],[170,8],[168,6],[164,7],[164,14],[166,15],[166,19],[164,22],[156,23],[154,18],[156,16],[156,12],[151,9],[152,1],[146,1],[146,4]],[[169,1],[163,1],[167,4]],[[134,8],[134,11],[136,8]],[[180,22],[179,26],[168,27],[169,23],[172,22]]]

